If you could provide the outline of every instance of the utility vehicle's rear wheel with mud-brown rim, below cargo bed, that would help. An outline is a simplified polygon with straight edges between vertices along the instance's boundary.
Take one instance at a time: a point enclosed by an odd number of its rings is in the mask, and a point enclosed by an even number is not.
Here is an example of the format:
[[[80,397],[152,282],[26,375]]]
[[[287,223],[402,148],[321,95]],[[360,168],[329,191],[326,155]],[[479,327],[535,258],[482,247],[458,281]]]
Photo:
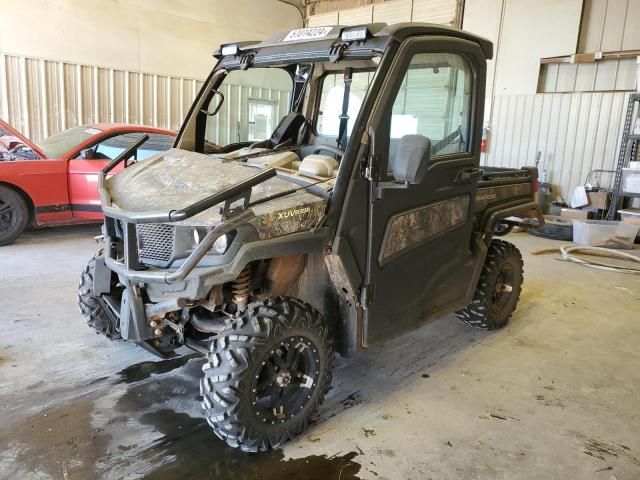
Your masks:
[[[472,327],[484,330],[504,327],[518,304],[523,278],[520,251],[509,242],[493,240],[473,301],[456,315]]]

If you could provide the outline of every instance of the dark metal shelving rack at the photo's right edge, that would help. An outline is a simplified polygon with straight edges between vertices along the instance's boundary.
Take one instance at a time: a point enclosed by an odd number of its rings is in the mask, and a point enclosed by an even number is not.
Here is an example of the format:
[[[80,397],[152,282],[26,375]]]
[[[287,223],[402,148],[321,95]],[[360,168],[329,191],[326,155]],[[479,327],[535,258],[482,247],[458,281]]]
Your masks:
[[[614,220],[618,210],[618,202],[621,197],[637,197],[640,193],[625,193],[622,188],[622,169],[629,165],[629,162],[638,158],[640,147],[640,134],[634,134],[632,129],[636,120],[640,116],[640,93],[633,93],[629,96],[627,114],[624,119],[624,130],[622,131],[622,142],[618,153],[618,165],[616,165],[616,176],[611,193],[611,204],[607,212],[607,220]]]

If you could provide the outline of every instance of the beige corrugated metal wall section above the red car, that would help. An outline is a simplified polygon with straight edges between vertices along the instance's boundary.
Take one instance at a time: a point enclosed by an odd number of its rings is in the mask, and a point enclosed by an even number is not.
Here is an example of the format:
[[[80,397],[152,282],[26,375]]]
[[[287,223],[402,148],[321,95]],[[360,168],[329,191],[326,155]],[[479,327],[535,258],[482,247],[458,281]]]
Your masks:
[[[177,130],[201,86],[193,78],[0,53],[0,118],[36,142],[99,122]]]

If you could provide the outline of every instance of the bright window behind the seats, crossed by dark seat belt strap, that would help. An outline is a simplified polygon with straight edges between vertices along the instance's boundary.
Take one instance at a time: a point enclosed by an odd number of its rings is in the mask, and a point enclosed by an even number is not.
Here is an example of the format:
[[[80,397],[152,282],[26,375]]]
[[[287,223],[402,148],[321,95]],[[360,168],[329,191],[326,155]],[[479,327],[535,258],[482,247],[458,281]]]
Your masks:
[[[349,115],[347,137],[351,136],[351,130],[360,112],[371,80],[373,80],[373,72],[353,72],[351,76],[349,108],[347,110],[347,114]],[[320,110],[318,111],[318,118],[316,120],[316,130],[320,136],[338,138],[343,100],[344,73],[327,74],[322,82]]]

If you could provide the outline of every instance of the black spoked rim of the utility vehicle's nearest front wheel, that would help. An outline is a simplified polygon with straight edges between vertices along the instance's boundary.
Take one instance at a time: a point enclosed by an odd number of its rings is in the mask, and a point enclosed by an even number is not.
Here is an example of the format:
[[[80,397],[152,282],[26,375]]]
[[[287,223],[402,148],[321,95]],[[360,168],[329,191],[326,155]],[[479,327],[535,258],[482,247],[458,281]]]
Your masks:
[[[302,412],[318,385],[320,356],[308,338],[288,337],[260,361],[251,386],[251,405],[267,424],[284,423]]]

